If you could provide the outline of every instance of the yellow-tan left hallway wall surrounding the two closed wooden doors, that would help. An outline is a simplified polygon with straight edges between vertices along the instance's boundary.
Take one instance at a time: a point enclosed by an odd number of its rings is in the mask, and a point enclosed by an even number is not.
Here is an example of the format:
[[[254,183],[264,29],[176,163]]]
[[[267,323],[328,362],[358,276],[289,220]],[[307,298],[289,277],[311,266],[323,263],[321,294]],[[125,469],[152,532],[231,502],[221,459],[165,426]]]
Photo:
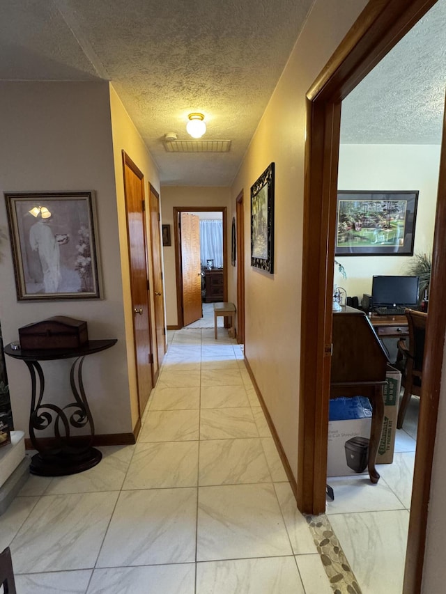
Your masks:
[[[132,159],[138,169],[144,174],[144,192],[146,195],[146,230],[148,249],[150,253],[151,245],[151,225],[150,210],[148,208],[149,182],[160,192],[160,180],[158,171],[148,153],[148,150],[139,136],[132,120],[130,120],[127,111],[125,111],[121,100],[119,99],[113,86],[110,85],[110,109],[112,115],[112,134],[113,134],[113,155],[114,155],[114,173],[116,180],[116,200],[118,208],[118,230],[119,230],[119,249],[121,250],[121,272],[123,281],[123,313],[125,319],[125,341],[128,355],[128,377],[130,383],[130,402],[132,407],[132,426],[138,419],[138,395],[136,383],[136,368],[134,360],[134,342],[133,342],[133,308],[130,292],[130,269],[127,241],[127,220],[125,214],[124,197],[124,178],[123,178],[123,157],[122,150]],[[152,259],[148,258],[149,281],[153,286]],[[152,345],[154,354],[154,369],[157,370],[156,357],[156,332],[155,332],[155,310],[153,304],[153,292],[149,292],[151,299],[151,325],[152,325]]]

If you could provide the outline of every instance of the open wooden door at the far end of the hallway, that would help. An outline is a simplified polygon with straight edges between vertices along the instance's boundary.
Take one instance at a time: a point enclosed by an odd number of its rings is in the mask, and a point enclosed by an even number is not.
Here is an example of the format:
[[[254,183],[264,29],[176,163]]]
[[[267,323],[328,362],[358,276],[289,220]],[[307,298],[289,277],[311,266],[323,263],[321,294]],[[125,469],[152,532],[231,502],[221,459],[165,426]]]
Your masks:
[[[183,325],[203,317],[201,305],[200,219],[180,214],[181,272],[183,276]]]

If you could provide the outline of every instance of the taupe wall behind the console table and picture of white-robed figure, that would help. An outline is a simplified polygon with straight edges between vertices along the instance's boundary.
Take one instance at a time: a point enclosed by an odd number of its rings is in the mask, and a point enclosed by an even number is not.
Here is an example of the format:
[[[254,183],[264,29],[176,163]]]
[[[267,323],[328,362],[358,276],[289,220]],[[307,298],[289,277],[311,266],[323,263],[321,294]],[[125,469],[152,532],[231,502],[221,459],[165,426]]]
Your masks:
[[[86,357],[84,384],[96,433],[132,430],[118,213],[108,83],[0,83],[0,193],[94,190],[98,214],[102,299],[17,302],[8,240],[0,244],[0,320],[4,343],[17,329],[52,315],[88,322],[90,338],[118,338],[111,349]],[[0,230],[8,236],[5,201]],[[15,428],[29,423],[31,382],[22,361],[6,357]],[[45,395],[67,383],[71,361],[43,364]]]

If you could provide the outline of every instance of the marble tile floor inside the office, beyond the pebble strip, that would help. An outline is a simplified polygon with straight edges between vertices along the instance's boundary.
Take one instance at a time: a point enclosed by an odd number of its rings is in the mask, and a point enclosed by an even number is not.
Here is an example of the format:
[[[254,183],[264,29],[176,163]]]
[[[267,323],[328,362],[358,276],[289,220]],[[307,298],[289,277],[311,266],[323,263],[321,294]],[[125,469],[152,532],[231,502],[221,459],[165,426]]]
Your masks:
[[[394,461],[377,464],[380,480],[367,474],[330,477],[334,501],[326,516],[362,594],[401,594],[420,400],[412,397],[397,430]]]

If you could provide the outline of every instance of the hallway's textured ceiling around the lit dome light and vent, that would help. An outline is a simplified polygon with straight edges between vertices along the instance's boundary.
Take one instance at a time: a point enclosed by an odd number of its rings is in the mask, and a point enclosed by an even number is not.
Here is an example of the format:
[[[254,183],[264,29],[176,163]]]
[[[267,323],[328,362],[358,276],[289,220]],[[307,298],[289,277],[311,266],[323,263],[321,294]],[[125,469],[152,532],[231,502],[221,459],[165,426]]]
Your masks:
[[[0,79],[111,80],[164,185],[230,185],[313,0],[1,0]],[[167,153],[201,111],[228,153]]]

